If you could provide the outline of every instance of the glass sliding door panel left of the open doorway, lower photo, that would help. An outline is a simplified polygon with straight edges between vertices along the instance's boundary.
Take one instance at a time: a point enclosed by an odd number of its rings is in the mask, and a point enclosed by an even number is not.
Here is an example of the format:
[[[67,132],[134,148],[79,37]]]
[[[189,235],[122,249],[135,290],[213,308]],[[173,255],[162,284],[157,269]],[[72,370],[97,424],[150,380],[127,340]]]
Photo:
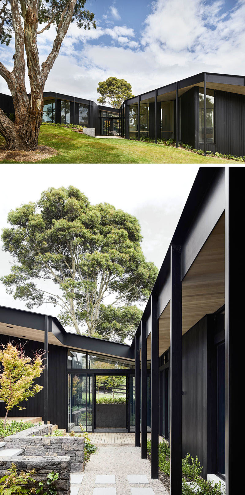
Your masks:
[[[68,431],[93,431],[93,375],[68,373]]]

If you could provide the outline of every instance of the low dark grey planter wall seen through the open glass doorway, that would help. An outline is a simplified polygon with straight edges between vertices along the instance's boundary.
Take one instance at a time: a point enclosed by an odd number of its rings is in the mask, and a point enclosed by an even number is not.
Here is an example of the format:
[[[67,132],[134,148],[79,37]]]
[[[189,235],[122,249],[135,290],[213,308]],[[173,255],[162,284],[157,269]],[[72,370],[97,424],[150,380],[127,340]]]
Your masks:
[[[126,404],[96,404],[96,428],[126,428]]]

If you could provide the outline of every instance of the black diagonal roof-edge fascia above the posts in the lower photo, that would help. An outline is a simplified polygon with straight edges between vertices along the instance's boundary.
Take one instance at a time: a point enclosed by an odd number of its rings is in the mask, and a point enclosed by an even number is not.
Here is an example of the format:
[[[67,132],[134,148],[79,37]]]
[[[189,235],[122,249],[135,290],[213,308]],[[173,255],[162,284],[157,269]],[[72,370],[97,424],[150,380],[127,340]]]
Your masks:
[[[194,219],[198,215],[198,210],[204,200],[207,190],[210,188],[211,184],[219,177],[224,167],[200,167],[193,183],[190,194],[187,198],[183,211],[181,213],[180,219],[178,221],[177,227],[173,234],[170,245],[167,249],[166,255],[163,260],[163,264],[160,268],[159,274],[157,276],[156,282],[153,286],[151,295],[159,294],[162,289],[167,275],[170,271],[170,246],[171,244],[181,245],[185,239],[186,233],[192,225]],[[144,312],[142,314],[141,320],[147,320],[151,314],[151,296],[149,297]],[[136,333],[141,331],[141,321],[136,330]],[[134,349],[135,339],[131,343],[132,349]]]

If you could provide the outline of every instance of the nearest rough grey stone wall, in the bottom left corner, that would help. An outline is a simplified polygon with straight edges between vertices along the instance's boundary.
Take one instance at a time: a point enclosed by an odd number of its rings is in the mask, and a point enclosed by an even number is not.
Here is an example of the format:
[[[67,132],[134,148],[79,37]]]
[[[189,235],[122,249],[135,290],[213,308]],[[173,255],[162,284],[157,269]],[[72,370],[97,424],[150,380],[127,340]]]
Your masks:
[[[59,474],[59,479],[55,481],[55,490],[57,495],[70,495],[71,493],[71,460],[68,457],[15,457],[11,459],[0,459],[0,478],[4,476],[7,469],[14,463],[17,467],[17,472],[25,471],[29,472],[32,469],[36,469],[37,474],[33,475],[33,478],[39,483],[44,483],[44,489],[48,488],[45,484],[47,480],[47,474],[54,471]],[[30,484],[31,487],[38,487],[38,484]],[[25,485],[27,488],[27,485]],[[49,485],[50,488],[50,485]]]

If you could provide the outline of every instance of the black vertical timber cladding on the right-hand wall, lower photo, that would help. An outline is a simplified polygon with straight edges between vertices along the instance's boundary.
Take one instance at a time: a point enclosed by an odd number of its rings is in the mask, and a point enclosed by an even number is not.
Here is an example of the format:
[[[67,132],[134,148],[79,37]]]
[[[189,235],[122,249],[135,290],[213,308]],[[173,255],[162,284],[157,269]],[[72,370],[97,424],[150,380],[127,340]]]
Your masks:
[[[196,455],[207,476],[207,332],[204,316],[182,337],[182,457]]]

